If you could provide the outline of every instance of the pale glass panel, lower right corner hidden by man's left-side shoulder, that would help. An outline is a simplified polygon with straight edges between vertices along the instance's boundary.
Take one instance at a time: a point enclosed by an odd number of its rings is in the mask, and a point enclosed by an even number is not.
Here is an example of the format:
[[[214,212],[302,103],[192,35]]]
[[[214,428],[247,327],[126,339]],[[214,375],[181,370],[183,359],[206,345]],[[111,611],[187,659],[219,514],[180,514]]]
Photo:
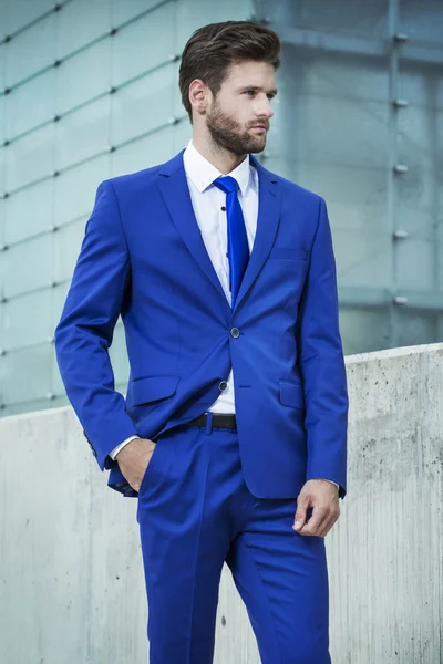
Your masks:
[[[90,216],[99,184],[110,177],[110,155],[85,162],[54,178],[54,221],[62,226]]]

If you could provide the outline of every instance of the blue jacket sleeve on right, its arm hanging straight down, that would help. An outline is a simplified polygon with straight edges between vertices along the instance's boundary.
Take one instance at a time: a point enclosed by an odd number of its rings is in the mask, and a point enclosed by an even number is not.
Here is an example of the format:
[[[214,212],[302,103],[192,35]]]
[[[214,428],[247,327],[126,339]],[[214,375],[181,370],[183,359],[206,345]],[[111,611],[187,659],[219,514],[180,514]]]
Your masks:
[[[317,477],[347,489],[348,388],[339,331],[336,261],[327,206],[319,197],[317,229],[296,326],[305,387],[308,442],[306,480]]]

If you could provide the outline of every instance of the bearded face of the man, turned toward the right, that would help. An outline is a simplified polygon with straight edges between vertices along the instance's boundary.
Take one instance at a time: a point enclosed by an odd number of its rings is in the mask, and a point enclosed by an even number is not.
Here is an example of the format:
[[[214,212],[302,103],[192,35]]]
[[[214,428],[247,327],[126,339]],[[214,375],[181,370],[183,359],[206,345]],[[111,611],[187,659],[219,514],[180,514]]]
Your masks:
[[[238,156],[262,152],[276,94],[271,64],[254,61],[233,64],[216,98],[208,90],[205,120],[214,143]]]

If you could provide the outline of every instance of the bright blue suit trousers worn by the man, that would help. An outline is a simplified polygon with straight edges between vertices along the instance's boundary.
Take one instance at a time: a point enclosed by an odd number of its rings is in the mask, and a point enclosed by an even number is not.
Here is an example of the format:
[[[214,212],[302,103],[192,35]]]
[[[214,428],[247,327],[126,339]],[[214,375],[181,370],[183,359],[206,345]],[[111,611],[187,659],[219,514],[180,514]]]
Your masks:
[[[226,562],[262,664],[330,664],[324,538],[292,529],[295,498],[249,491],[237,429],[212,415],[161,434],[140,487],[148,662],[213,662]]]

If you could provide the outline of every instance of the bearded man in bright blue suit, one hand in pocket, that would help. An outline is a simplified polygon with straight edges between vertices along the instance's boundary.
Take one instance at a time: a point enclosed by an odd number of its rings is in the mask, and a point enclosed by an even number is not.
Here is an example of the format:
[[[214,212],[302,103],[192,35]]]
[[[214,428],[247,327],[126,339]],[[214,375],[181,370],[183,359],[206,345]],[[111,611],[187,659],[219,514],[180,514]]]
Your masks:
[[[346,495],[347,381],[324,200],[253,156],[279,52],[254,22],[193,34],[192,141],[101,183],[56,328],[99,466],[137,497],[152,664],[213,661],[224,562],[265,664],[331,662],[324,536]],[[126,401],[107,353],[120,314]]]

